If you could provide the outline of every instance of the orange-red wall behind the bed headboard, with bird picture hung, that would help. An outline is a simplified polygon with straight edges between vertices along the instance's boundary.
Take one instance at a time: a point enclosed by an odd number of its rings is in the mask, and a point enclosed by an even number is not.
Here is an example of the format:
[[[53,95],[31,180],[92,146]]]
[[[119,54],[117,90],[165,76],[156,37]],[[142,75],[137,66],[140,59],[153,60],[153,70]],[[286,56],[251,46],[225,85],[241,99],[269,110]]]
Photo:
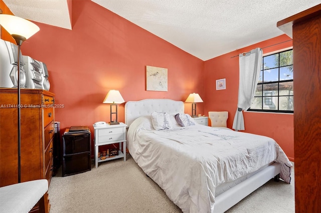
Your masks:
[[[61,128],[109,121],[110,89],[125,101],[144,98],[185,100],[189,93],[204,96],[204,61],[159,38],[90,0],[72,4],[73,29],[43,23],[22,44],[22,53],[43,61],[49,70],[50,91]],[[168,68],[168,91],[145,90],[145,66]],[[198,104],[203,112],[203,103]],[[190,104],[186,111],[191,111]],[[124,121],[124,103],[118,106]]]

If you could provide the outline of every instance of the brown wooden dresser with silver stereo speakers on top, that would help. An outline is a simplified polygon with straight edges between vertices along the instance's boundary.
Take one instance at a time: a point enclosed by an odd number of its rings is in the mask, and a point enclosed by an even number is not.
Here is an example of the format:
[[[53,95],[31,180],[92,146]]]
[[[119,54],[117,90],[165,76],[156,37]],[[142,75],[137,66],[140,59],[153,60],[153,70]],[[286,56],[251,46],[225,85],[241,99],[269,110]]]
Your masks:
[[[21,181],[44,179],[53,169],[52,92],[21,89]],[[17,88],[0,88],[0,186],[18,182]],[[47,197],[48,200],[48,197]],[[48,200],[48,209],[49,209]]]

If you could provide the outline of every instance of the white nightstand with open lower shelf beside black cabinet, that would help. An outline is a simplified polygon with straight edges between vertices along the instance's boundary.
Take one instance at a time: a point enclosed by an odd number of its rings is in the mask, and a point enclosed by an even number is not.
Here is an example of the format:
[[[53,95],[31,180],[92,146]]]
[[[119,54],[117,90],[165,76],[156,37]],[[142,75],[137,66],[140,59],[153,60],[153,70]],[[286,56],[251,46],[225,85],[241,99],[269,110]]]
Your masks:
[[[98,167],[98,162],[104,162],[117,158],[124,158],[126,161],[126,124],[120,122],[119,124],[94,126],[94,141],[95,141],[95,165]],[[119,143],[118,155],[106,156],[105,159],[101,159],[102,155],[98,157],[98,147],[100,145],[108,145],[113,143]],[[121,151],[121,143],[123,145],[123,152]]]

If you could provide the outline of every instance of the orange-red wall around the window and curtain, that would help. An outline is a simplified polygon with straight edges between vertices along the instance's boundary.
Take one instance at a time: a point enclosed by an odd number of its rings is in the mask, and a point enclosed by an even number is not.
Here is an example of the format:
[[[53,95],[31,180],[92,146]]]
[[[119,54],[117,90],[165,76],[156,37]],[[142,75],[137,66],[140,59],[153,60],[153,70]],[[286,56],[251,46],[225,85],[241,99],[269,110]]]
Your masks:
[[[208,111],[229,111],[227,124],[228,127],[232,128],[234,115],[237,109],[239,86],[238,54],[248,52],[256,47],[262,48],[263,54],[266,54],[292,46],[292,40],[290,39],[290,37],[283,34],[205,61],[204,79],[206,83],[204,88],[205,98],[203,99],[205,101],[205,114],[208,115]],[[226,78],[226,89],[216,90],[216,79],[221,78]],[[294,161],[293,114],[261,112],[243,112],[243,114],[245,132],[274,138],[285,151],[289,159]]]

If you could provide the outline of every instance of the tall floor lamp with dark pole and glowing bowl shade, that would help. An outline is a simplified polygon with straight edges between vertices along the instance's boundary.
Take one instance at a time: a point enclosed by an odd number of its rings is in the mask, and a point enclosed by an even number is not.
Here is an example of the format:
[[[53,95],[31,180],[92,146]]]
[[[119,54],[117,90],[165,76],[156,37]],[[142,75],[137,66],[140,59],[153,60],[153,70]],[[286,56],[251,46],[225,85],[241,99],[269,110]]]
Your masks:
[[[39,31],[39,27],[33,22],[21,17],[9,14],[0,14],[0,25],[2,25],[16,40],[18,45],[18,62],[17,62],[17,90],[18,90],[18,182],[21,182],[21,122],[20,122],[20,46],[21,44]]]

